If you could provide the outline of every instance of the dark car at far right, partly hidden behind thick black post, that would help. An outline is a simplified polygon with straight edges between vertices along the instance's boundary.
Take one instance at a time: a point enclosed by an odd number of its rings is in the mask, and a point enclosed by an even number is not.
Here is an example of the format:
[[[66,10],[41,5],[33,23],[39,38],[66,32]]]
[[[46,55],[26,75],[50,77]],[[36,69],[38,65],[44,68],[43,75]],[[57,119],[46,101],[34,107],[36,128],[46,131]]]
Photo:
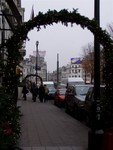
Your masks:
[[[101,104],[100,107],[102,107],[104,92],[105,92],[105,86],[100,85],[100,104]],[[93,106],[94,106],[94,87],[90,87],[85,98],[84,110],[83,110],[83,113],[85,115],[85,122],[88,126],[92,126],[92,119],[93,119],[92,115],[94,113]]]

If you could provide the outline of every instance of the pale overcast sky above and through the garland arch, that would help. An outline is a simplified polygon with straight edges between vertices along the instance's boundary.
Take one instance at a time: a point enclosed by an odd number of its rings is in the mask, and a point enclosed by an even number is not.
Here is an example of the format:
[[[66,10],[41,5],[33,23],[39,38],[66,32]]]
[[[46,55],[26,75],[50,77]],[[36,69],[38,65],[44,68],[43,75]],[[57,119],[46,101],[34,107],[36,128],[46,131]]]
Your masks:
[[[46,13],[50,10],[78,8],[78,13],[90,19],[94,18],[94,0],[22,0],[25,8],[25,21],[30,19],[31,9],[34,6],[35,16],[38,12]],[[108,24],[113,23],[113,0],[100,0],[100,26],[107,29]],[[29,32],[30,41],[26,43],[26,57],[33,55],[36,50],[36,41],[39,41],[38,49],[46,51],[45,60],[49,72],[57,68],[57,54],[59,54],[59,66],[66,65],[70,58],[81,57],[83,47],[93,43],[93,34],[87,29],[83,30],[76,24],[65,27],[62,24],[43,27],[39,32],[36,29]]]

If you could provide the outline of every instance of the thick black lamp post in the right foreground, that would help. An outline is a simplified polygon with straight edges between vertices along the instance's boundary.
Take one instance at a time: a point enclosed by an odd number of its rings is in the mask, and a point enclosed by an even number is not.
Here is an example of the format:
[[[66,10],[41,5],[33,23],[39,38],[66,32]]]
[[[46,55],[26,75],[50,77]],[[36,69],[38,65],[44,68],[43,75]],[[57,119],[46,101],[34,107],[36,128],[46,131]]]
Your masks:
[[[100,0],[94,0],[94,17],[100,26]],[[94,35],[94,107],[93,126],[88,133],[88,150],[101,150],[103,129],[100,107],[100,44],[97,35]]]

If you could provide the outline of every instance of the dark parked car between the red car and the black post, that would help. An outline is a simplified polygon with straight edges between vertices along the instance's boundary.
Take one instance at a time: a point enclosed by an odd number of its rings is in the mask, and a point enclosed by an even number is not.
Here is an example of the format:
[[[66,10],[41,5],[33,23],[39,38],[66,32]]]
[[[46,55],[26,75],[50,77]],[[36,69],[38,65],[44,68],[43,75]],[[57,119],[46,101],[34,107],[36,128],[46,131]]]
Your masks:
[[[68,86],[65,94],[65,111],[77,119],[82,119],[85,97],[92,86],[91,84]]]

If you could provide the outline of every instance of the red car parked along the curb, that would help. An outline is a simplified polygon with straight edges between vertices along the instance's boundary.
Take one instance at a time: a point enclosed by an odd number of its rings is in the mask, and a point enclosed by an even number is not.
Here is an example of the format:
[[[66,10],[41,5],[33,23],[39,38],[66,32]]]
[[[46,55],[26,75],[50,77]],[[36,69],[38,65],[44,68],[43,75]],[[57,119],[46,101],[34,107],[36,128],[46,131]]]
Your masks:
[[[65,106],[65,92],[66,88],[58,88],[55,92],[54,104],[59,107]]]

